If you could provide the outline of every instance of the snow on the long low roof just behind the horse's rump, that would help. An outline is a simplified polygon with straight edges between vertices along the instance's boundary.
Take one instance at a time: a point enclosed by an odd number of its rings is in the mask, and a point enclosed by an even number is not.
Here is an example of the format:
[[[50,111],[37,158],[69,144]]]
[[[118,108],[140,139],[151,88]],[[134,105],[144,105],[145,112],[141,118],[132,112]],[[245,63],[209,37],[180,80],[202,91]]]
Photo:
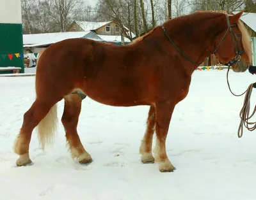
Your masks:
[[[23,46],[44,46],[51,45],[58,41],[70,38],[82,38],[90,31],[83,32],[50,32],[50,33],[39,33],[39,34],[23,34]]]

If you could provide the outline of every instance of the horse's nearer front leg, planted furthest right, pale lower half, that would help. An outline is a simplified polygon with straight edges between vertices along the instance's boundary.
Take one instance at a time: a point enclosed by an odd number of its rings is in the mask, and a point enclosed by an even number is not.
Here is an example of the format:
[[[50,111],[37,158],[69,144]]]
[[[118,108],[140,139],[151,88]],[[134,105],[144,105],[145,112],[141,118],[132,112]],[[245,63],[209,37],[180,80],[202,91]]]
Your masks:
[[[165,101],[163,103],[156,103],[156,147],[155,159],[159,163],[159,170],[161,172],[170,172],[175,170],[172,163],[166,155],[166,137],[172,118],[172,113],[175,107],[173,101]]]

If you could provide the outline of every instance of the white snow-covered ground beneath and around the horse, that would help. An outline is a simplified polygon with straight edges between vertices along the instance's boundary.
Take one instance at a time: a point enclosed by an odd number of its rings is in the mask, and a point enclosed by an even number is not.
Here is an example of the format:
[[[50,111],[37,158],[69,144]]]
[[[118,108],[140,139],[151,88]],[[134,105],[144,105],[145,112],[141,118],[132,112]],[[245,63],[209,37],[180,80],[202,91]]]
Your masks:
[[[177,170],[160,173],[138,154],[148,106],[116,108],[86,98],[78,132],[93,162],[81,166],[65,146],[58,104],[56,143],[43,152],[36,131],[33,166],[15,167],[13,141],[35,98],[35,76],[0,77],[0,199],[256,199],[256,132],[237,138],[244,96],[234,97],[226,70],[195,71],[188,97],[175,108],[167,154]],[[230,71],[230,85],[243,92],[256,76]],[[252,107],[256,92],[253,90]],[[255,119],[255,117],[254,117]]]

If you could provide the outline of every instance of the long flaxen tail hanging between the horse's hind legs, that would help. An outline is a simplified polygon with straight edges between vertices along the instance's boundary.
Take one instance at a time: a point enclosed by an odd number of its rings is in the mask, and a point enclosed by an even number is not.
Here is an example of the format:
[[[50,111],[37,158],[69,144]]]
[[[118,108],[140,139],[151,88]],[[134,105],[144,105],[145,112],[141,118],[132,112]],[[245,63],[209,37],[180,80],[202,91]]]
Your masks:
[[[52,145],[54,143],[57,128],[57,104],[54,104],[49,113],[47,113],[47,115],[37,125],[38,140],[43,150],[45,149],[45,145]]]

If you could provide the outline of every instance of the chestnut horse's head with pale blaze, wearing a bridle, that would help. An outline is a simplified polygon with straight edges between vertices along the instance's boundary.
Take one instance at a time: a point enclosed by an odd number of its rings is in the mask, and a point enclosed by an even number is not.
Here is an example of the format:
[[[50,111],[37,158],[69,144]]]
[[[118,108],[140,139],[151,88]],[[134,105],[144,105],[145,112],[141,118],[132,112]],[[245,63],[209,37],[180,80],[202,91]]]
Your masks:
[[[214,50],[220,62],[232,66],[235,72],[244,72],[252,64],[250,36],[240,20],[242,14],[226,15],[226,28],[218,34]]]

